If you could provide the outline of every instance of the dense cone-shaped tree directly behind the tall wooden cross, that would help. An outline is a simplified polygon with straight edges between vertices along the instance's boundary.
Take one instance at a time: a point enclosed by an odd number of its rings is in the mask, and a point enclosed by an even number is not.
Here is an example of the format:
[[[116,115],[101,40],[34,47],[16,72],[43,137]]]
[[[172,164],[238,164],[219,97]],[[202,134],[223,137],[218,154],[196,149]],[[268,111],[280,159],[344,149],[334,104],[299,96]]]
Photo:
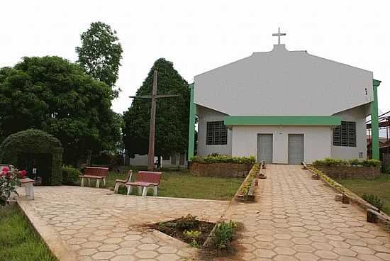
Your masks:
[[[136,95],[152,93],[153,72],[158,70],[157,94],[179,94],[157,99],[155,155],[185,152],[188,145],[189,89],[173,63],[160,58],[155,62]],[[130,156],[147,154],[150,129],[150,100],[134,99],[123,116],[126,151]]]

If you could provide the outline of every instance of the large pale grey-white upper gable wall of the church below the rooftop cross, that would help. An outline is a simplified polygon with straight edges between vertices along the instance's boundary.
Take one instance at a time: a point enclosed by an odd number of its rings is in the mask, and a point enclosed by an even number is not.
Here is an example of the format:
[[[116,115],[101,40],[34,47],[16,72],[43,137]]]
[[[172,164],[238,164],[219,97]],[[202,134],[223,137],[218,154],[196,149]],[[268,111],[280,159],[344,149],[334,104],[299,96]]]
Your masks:
[[[196,104],[230,116],[330,116],[373,101],[372,72],[284,45],[199,74],[194,84]]]

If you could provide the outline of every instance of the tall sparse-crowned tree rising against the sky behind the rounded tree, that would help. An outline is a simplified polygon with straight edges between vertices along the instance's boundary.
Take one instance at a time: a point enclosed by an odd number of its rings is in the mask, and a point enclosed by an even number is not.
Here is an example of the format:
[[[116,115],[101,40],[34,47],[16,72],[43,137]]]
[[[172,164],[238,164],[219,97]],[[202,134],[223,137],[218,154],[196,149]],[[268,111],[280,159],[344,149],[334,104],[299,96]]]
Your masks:
[[[82,46],[76,48],[79,65],[94,79],[115,87],[123,52],[116,30],[106,23],[91,23],[80,38]]]

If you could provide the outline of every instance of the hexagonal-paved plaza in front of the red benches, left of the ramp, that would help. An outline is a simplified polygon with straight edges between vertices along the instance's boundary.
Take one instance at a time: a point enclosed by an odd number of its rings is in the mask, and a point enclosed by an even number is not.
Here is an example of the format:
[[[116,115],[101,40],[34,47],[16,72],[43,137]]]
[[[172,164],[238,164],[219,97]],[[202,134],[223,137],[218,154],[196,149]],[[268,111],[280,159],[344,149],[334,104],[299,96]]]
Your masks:
[[[24,194],[24,191],[21,191]],[[35,187],[18,204],[62,260],[187,260],[196,249],[145,228],[188,213],[218,221],[228,201],[125,196],[89,187]]]

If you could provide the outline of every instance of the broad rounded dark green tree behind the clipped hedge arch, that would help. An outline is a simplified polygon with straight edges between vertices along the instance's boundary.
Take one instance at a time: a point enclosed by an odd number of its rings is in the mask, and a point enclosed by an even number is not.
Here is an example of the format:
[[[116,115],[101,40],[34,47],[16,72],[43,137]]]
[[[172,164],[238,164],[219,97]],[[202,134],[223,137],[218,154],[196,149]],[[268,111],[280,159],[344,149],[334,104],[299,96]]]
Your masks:
[[[88,150],[121,141],[121,116],[111,111],[113,90],[61,57],[24,57],[0,70],[0,141],[28,128],[45,130],[73,164]]]

